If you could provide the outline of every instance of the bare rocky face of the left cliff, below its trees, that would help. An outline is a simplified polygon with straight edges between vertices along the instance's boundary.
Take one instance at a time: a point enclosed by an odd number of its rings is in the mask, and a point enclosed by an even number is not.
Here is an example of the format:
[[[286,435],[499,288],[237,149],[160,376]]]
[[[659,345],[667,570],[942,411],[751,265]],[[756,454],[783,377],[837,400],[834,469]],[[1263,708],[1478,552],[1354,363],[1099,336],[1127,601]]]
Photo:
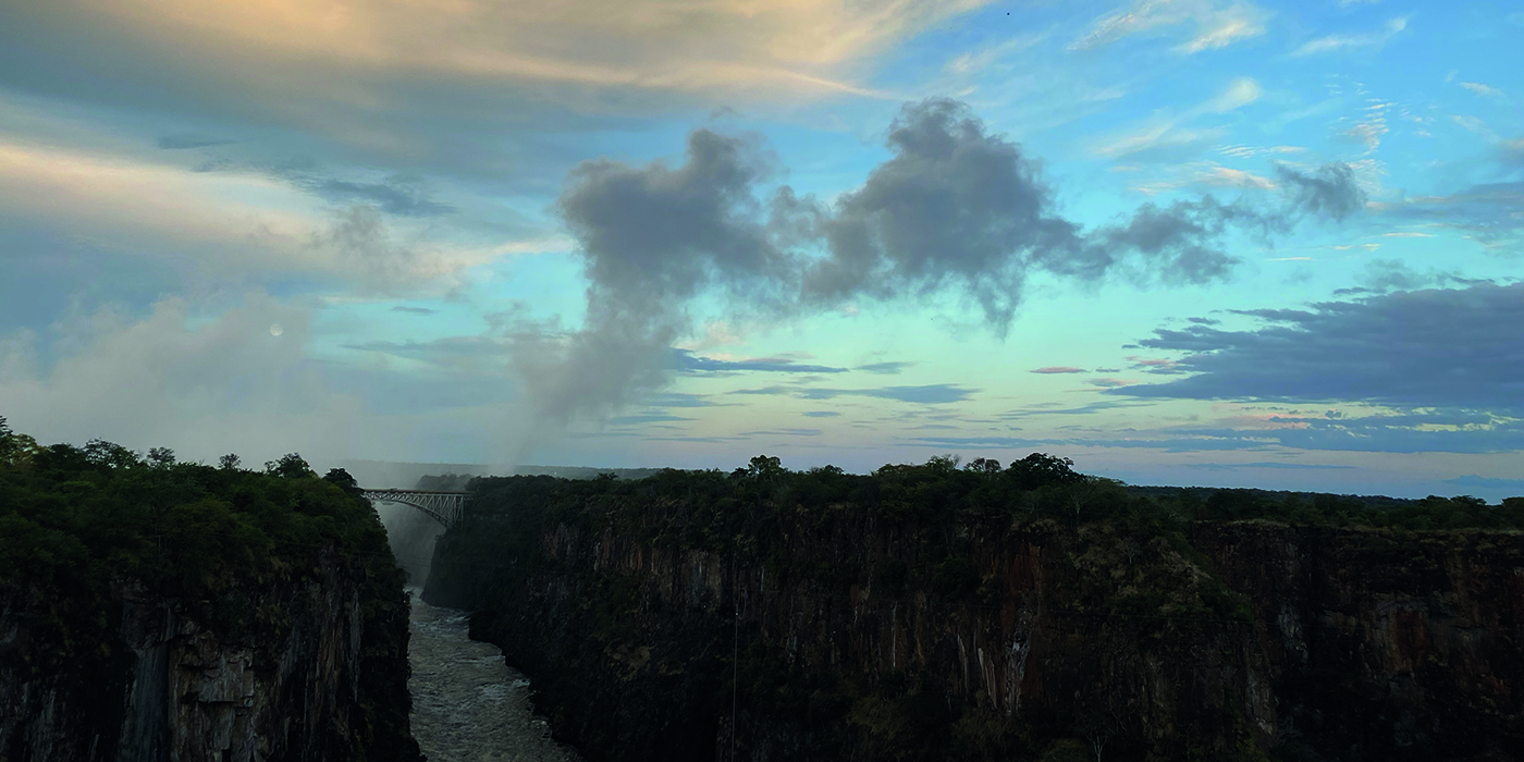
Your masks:
[[[364,600],[363,579],[361,564],[326,553],[294,582],[219,602],[238,611],[123,582],[101,613],[114,637],[47,668],[62,645],[29,626],[46,593],[3,591],[0,759],[421,759],[407,733],[405,613]],[[268,626],[230,636],[215,622],[247,613],[268,614]]]

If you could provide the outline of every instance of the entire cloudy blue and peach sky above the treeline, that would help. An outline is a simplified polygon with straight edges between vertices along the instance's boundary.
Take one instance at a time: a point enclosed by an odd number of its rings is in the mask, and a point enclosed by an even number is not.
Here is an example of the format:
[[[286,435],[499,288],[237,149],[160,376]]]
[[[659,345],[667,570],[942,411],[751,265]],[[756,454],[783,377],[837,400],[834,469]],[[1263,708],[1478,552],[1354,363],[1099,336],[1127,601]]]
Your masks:
[[[1524,11],[17,0],[0,416],[1524,494]]]

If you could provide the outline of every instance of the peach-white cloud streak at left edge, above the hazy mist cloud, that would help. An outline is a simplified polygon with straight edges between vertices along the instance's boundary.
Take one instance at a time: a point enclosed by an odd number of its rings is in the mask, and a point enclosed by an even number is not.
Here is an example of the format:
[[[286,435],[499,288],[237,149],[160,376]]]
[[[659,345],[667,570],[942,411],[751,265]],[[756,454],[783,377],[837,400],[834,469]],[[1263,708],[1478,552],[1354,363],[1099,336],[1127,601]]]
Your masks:
[[[187,280],[305,276],[416,293],[494,256],[433,244],[424,230],[367,204],[293,212],[306,207],[302,194],[261,172],[186,172],[0,139],[0,223],[58,232],[116,256],[174,262]]]

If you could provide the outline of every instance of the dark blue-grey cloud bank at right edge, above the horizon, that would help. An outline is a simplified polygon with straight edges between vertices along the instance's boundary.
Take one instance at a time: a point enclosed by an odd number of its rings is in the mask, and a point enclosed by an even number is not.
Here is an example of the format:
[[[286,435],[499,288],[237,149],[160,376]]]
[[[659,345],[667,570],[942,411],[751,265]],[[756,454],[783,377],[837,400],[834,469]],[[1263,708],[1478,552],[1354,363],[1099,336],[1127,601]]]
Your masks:
[[[1108,393],[1187,399],[1350,401],[1524,413],[1524,283],[1399,291],[1308,309],[1244,312],[1251,331],[1158,329],[1190,372]]]

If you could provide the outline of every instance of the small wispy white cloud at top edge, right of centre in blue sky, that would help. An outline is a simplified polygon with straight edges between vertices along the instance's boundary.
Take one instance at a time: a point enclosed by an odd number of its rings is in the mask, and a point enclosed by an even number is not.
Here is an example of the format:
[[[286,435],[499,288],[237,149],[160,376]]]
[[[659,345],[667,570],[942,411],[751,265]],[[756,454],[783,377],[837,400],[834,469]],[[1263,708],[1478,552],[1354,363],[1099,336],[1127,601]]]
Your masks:
[[[1134,0],[1091,23],[1090,30],[1070,43],[1071,52],[1109,46],[1132,35],[1160,32],[1192,23],[1193,34],[1175,47],[1178,53],[1199,53],[1225,47],[1265,34],[1268,14],[1250,3],[1221,5],[1210,0]]]

